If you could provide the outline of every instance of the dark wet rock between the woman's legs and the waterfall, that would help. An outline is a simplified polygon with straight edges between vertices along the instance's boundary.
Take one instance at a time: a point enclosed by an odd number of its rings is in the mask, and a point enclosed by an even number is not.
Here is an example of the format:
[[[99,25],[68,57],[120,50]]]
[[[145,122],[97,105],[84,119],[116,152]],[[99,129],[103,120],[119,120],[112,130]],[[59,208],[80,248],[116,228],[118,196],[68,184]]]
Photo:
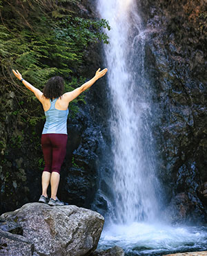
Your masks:
[[[63,182],[60,184],[59,191],[63,201],[90,208],[97,189],[97,165],[99,164],[97,153],[101,134],[83,111],[80,111],[78,116],[77,120],[71,120],[72,124],[69,127],[68,148],[72,147],[75,150],[66,156],[71,159],[71,163],[68,170],[65,168],[62,172]],[[79,122],[79,125],[76,122]]]

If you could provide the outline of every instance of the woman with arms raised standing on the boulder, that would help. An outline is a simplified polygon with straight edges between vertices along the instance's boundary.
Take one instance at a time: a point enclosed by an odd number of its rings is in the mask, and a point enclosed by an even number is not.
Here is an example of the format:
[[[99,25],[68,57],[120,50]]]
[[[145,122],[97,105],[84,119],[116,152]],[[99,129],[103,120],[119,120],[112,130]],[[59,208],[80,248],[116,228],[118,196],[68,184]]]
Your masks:
[[[45,167],[41,176],[42,194],[39,198],[39,202],[41,203],[48,203],[48,205],[52,206],[64,205],[57,198],[57,189],[59,186],[61,165],[66,156],[68,104],[108,71],[107,68],[104,68],[102,71],[100,70],[101,68],[97,70],[91,80],[68,93],[63,93],[64,80],[62,77],[55,76],[50,78],[43,92],[41,92],[24,80],[19,71],[12,70],[14,75],[41,102],[46,115],[46,123],[41,135],[41,147],[45,161]],[[51,185],[50,201],[47,194],[49,184]]]

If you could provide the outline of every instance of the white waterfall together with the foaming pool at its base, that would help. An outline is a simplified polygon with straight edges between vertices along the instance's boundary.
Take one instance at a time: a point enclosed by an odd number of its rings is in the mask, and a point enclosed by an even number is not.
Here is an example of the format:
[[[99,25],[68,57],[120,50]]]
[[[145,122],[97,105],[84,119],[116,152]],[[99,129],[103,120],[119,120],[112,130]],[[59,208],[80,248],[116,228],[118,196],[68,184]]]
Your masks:
[[[110,100],[112,156],[110,174],[100,172],[97,194],[107,201],[99,248],[115,245],[126,255],[201,250],[205,228],[173,228],[161,223],[161,188],[157,180],[153,122],[158,109],[146,73],[147,33],[135,0],[97,0],[101,18],[109,21],[110,44],[104,45]],[[109,164],[109,162],[112,164]],[[103,168],[104,169],[104,168]],[[111,179],[110,179],[111,178]],[[105,207],[106,208],[106,207]]]

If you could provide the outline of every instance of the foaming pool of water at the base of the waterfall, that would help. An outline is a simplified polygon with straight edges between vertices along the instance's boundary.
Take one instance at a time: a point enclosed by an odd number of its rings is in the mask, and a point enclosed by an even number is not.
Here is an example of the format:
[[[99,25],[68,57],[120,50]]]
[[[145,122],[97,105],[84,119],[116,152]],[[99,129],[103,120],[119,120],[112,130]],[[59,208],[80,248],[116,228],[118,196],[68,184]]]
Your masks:
[[[124,249],[126,256],[164,255],[207,250],[207,227],[172,227],[161,223],[131,223],[103,228],[98,248]]]

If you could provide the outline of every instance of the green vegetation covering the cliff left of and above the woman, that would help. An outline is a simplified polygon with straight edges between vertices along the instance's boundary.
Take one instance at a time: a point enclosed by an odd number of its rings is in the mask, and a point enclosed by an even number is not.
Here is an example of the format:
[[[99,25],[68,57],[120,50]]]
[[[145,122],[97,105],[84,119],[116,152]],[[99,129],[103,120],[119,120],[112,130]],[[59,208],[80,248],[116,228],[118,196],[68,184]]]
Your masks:
[[[10,210],[19,205],[17,198],[22,193],[26,197],[30,190],[28,177],[35,182],[34,174],[31,176],[28,172],[43,166],[39,144],[43,110],[34,95],[15,79],[12,68],[18,69],[24,79],[39,89],[43,89],[46,80],[54,75],[65,79],[66,91],[83,83],[85,78],[79,71],[85,64],[84,51],[101,40],[108,43],[101,28],[110,27],[106,20],[83,18],[77,8],[80,2],[0,1],[2,211],[8,210],[8,204]],[[70,104],[73,116],[77,111],[77,101],[84,102],[84,94]],[[9,198],[10,203],[3,203]]]

